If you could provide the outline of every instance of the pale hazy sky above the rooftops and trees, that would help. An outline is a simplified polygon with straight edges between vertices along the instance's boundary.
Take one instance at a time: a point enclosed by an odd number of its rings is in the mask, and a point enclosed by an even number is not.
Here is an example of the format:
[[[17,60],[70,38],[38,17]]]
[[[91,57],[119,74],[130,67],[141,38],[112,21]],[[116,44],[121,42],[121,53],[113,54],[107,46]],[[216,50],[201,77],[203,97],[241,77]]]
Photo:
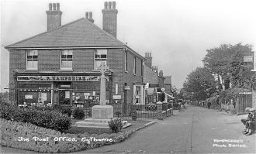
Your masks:
[[[48,4],[61,5],[62,25],[92,12],[102,28],[104,0],[0,0],[1,91],[9,83],[9,52],[3,48],[47,31]],[[206,50],[220,44],[256,46],[254,0],[116,0],[117,39],[172,77],[181,88],[187,75],[202,66]],[[253,47],[253,50],[256,50]]]

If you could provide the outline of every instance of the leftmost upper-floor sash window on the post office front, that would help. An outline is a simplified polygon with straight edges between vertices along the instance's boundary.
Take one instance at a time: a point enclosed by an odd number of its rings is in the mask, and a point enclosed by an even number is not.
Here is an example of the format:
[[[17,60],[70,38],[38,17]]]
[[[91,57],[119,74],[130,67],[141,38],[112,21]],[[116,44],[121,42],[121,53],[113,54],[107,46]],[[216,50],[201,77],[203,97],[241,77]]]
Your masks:
[[[38,63],[38,51],[27,50],[26,51],[26,70],[37,70]]]

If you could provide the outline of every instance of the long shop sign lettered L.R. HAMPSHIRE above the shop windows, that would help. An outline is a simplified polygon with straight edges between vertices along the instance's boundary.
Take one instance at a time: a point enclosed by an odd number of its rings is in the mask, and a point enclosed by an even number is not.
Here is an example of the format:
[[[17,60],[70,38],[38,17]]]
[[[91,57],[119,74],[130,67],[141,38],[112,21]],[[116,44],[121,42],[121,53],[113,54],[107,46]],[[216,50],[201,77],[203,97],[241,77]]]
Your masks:
[[[18,81],[99,81],[99,76],[18,76]],[[109,80],[109,77],[106,77]]]

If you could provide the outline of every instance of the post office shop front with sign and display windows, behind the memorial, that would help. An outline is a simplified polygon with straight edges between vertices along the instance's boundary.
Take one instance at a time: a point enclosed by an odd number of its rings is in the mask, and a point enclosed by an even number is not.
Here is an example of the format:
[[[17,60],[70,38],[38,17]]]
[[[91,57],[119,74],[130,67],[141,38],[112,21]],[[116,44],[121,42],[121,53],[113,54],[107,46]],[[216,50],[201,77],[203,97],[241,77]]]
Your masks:
[[[109,86],[106,74],[106,86]],[[51,106],[52,104],[74,105],[77,107],[99,104],[100,73],[92,74],[18,74],[18,104]],[[109,99],[109,88],[106,88]]]

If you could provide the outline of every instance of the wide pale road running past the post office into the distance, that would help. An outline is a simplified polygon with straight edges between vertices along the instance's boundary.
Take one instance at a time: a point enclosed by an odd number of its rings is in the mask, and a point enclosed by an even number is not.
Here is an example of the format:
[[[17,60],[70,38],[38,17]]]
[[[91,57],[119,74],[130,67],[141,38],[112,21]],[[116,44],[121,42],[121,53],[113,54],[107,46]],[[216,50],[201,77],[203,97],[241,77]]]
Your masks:
[[[124,142],[72,153],[256,153],[256,134],[242,134],[244,117],[186,104],[185,111],[157,120]],[[1,153],[36,152],[2,147]]]

